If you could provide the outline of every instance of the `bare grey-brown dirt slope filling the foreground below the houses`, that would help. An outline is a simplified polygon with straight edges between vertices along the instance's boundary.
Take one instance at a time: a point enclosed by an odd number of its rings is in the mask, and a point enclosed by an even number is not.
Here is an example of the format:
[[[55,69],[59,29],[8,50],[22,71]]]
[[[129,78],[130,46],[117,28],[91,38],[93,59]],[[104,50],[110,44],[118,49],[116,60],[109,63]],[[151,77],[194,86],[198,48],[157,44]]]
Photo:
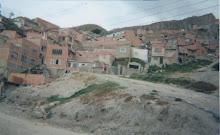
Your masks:
[[[49,104],[46,101],[51,95],[68,97],[82,88],[108,81],[118,83],[120,88],[101,93],[94,91],[64,104]],[[2,103],[13,109],[0,110],[74,132],[101,135],[217,135],[218,99],[218,95],[175,85],[113,75],[68,73],[47,85],[18,88]],[[45,106],[52,107],[45,112],[42,111]]]

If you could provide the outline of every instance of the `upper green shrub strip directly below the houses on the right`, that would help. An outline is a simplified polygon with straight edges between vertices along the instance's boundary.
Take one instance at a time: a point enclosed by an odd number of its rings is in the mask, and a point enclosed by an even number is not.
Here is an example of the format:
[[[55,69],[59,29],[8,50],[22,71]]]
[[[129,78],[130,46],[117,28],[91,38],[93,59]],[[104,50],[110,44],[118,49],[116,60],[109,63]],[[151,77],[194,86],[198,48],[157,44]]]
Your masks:
[[[192,72],[195,69],[198,69],[202,66],[207,66],[211,64],[212,62],[209,60],[201,60],[201,59],[196,59],[193,60],[187,64],[172,64],[172,65],[165,65],[163,67],[158,67],[158,66],[150,66],[149,67],[149,72],[156,72],[159,70],[164,70],[165,73],[172,73],[172,72]]]

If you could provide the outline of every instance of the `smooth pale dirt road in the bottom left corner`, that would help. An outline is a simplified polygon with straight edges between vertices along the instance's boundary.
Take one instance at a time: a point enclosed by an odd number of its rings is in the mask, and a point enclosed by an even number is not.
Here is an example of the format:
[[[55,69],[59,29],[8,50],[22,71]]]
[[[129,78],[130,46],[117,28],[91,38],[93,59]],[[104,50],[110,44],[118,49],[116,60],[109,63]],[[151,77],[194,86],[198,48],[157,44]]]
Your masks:
[[[1,135],[86,135],[55,128],[43,123],[12,117],[0,112]]]

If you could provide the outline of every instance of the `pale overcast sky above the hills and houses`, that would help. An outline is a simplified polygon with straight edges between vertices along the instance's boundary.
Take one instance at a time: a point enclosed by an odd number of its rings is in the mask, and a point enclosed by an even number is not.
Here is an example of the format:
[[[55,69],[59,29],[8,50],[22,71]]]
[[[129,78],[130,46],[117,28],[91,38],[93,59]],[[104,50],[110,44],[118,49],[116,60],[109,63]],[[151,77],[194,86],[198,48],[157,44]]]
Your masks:
[[[2,15],[10,12],[40,17],[60,27],[97,24],[107,30],[178,20],[213,13],[219,0],[0,0]],[[213,7],[215,6],[215,7]],[[196,11],[196,12],[195,12]],[[13,18],[13,17],[12,17]]]

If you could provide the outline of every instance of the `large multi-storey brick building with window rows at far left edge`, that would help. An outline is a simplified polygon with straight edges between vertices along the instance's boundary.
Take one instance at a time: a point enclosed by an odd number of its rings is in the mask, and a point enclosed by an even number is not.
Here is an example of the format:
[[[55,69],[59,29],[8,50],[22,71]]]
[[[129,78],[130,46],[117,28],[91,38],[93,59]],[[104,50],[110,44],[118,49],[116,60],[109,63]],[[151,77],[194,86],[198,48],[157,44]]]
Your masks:
[[[0,74],[8,77],[11,72],[23,72],[39,65],[39,52],[40,47],[25,38],[6,40],[0,44]]]

